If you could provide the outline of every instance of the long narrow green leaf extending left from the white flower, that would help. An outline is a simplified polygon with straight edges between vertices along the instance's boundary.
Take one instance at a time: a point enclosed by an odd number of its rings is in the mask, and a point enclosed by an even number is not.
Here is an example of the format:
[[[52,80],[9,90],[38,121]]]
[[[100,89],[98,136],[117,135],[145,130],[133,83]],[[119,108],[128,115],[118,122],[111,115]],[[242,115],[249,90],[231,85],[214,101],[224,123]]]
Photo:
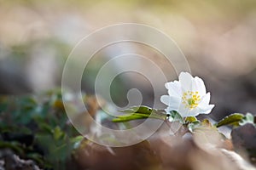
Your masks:
[[[113,118],[112,122],[129,122],[137,119],[147,118],[165,120],[167,116],[164,110],[155,110],[144,105],[132,106],[131,108],[120,112],[125,112],[126,114],[116,116]]]

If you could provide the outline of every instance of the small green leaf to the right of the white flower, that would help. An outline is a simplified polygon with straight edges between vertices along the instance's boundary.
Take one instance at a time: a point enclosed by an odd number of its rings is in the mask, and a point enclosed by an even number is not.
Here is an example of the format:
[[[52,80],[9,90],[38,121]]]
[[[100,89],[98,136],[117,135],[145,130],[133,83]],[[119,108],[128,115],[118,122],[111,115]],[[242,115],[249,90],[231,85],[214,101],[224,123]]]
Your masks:
[[[230,116],[225,116],[222,120],[220,120],[217,124],[216,127],[221,127],[224,125],[239,125],[239,122],[243,118],[243,115],[241,113],[234,113],[231,114]]]

